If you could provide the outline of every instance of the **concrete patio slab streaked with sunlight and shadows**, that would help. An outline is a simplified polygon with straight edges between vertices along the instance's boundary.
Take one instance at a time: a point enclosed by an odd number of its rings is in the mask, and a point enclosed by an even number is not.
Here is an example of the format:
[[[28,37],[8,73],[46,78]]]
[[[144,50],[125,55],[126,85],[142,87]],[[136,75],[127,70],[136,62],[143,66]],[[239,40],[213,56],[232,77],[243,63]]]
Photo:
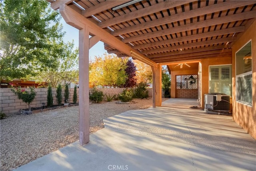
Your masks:
[[[256,170],[256,141],[231,116],[206,114],[194,99],[126,111],[105,128],[16,171]]]

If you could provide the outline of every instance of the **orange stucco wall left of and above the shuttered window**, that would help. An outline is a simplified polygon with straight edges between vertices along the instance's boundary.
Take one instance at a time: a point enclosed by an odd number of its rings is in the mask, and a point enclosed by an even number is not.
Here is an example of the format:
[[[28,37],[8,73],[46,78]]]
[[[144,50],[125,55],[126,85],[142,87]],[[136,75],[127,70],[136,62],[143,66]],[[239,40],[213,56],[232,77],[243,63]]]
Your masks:
[[[202,91],[201,107],[204,109],[204,94],[209,93],[209,66],[232,64],[232,57],[202,58]]]

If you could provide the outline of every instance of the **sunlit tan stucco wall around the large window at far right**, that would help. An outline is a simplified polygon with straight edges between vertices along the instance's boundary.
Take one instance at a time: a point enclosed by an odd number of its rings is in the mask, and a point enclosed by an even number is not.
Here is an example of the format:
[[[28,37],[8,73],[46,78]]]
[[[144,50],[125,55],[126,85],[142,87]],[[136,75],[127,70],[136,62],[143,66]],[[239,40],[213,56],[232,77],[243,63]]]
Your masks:
[[[232,46],[233,119],[256,139],[256,20]],[[236,102],[236,52],[252,40],[252,107]]]

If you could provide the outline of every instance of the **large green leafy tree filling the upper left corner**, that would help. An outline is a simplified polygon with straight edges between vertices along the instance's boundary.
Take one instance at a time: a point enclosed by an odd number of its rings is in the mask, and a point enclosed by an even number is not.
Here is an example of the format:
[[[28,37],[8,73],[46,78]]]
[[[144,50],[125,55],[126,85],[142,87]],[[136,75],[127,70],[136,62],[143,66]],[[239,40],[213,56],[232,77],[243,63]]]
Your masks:
[[[54,46],[64,32],[60,15],[44,0],[5,0],[0,3],[1,78],[34,76],[52,67],[62,47]]]

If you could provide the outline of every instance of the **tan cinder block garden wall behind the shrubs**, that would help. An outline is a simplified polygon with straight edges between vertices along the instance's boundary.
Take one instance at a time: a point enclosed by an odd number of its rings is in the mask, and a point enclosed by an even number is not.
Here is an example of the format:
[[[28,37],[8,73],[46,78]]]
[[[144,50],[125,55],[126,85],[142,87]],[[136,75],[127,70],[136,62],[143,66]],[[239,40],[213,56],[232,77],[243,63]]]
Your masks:
[[[124,89],[125,88],[100,88],[99,90],[103,91],[104,95],[105,94],[118,95],[119,93],[122,93]],[[47,104],[47,90],[48,88],[35,88],[36,97],[34,101],[32,101],[31,107],[42,107],[42,103]],[[149,97],[152,97],[152,88],[148,88],[147,90],[148,90]],[[74,89],[70,88],[69,93],[70,94],[69,94],[68,102],[72,103]],[[57,104],[56,94],[57,94],[56,88],[52,88],[54,105]],[[79,95],[79,89],[77,89],[77,102],[79,102],[78,95]],[[62,88],[62,103],[64,103],[63,100],[64,100],[64,88]],[[104,97],[104,100],[106,100],[106,96]],[[12,113],[18,113],[19,109],[27,109],[27,108],[28,108],[28,105],[22,102],[22,100],[18,99],[17,95],[14,95],[14,93],[11,91],[10,88],[0,89],[0,111],[4,112],[5,114],[12,114]]]

